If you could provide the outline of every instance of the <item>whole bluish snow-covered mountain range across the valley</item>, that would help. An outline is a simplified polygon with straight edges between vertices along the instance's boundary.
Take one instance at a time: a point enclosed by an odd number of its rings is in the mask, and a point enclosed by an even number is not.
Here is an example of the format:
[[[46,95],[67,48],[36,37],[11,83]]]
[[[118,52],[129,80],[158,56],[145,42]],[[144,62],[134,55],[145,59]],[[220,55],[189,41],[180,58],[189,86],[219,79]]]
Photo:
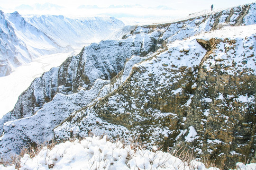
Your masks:
[[[99,42],[124,24],[113,17],[70,19],[63,16],[25,16],[0,11],[0,76],[9,75],[33,58],[72,51]]]

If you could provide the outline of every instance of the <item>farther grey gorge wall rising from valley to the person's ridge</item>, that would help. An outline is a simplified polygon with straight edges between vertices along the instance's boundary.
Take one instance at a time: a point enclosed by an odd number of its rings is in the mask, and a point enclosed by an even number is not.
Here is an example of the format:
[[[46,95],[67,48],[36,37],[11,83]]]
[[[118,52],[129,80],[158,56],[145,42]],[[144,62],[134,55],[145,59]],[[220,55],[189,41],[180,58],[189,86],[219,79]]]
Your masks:
[[[242,17],[244,19],[243,24],[249,25],[249,23],[252,22],[251,20],[253,20],[253,18],[251,18],[250,13],[253,13],[254,10],[255,10],[254,5],[251,5],[251,6],[245,5],[245,6],[241,6],[241,7],[237,7],[237,8],[224,10],[224,11],[218,12],[217,14],[214,14],[214,15],[195,17],[192,19],[188,19],[185,21],[179,21],[176,23],[170,23],[170,24],[164,24],[164,25],[153,25],[153,26],[137,26],[137,28],[133,31],[133,33],[126,35],[125,38],[128,38],[129,36],[132,36],[133,34],[143,34],[143,33],[154,34],[153,37],[151,37],[151,38],[149,37],[149,39],[146,41],[139,40],[140,37],[136,38],[136,39],[138,39],[137,41],[141,41],[140,42],[141,49],[140,49],[140,51],[134,51],[132,53],[132,55],[146,56],[146,54],[150,51],[154,52],[155,50],[157,50],[159,48],[165,48],[165,44],[167,42],[173,42],[175,40],[182,40],[184,38],[190,37],[195,34],[199,34],[201,32],[210,31],[214,27],[214,25],[218,25],[219,23],[227,22],[230,26],[233,26],[233,25],[237,24],[237,22],[238,22],[237,19],[239,18],[239,21],[240,21],[241,17]],[[245,16],[245,14],[247,14],[247,16]],[[235,17],[231,18],[230,16],[231,17],[235,16]],[[144,41],[144,42],[142,42],[142,41]],[[119,46],[123,46],[122,47],[123,49],[127,49],[127,47],[128,47],[127,45],[122,44],[123,42],[127,43],[127,41],[120,41],[120,42],[112,41],[112,42],[119,43]],[[95,76],[94,79],[97,79],[97,78],[111,79],[123,68],[124,60],[122,60],[119,63],[116,62],[114,64],[114,65],[117,65],[114,67],[118,68],[118,69],[114,68],[114,69],[116,69],[114,71],[111,70],[112,66],[109,66],[109,63],[107,63],[107,62],[100,63],[100,64],[98,63],[98,60],[101,60],[101,57],[97,58],[97,53],[99,52],[99,53],[101,53],[101,55],[102,55],[102,53],[108,53],[111,50],[112,42],[111,41],[110,42],[101,42],[101,44],[99,44],[99,45],[92,44],[89,48],[86,48],[86,50],[88,50],[88,53],[90,53],[89,55],[91,55],[91,57],[88,58],[87,61],[92,60],[92,61],[88,61],[88,62],[91,62],[90,65],[93,65],[93,67],[96,67],[97,69],[100,68],[101,74],[104,75],[104,77],[102,77],[102,75]],[[110,50],[108,50],[107,47],[104,46],[103,43],[106,43],[106,44],[109,43]],[[137,48],[139,46],[138,44],[135,44],[134,42],[130,42],[130,43],[132,43],[132,44],[130,44],[131,47],[136,46],[136,48]],[[115,45],[117,45],[117,44],[115,44]],[[102,48],[105,48],[105,49],[101,50]],[[147,50],[145,51],[144,48],[146,48]],[[98,49],[100,49],[100,51],[97,51]],[[119,53],[120,54],[107,54],[104,57],[105,58],[107,58],[107,57],[116,58],[117,56],[120,57],[120,55],[125,54],[124,51],[120,51]],[[96,57],[94,57],[93,55]],[[131,56],[131,55],[127,55],[127,56]],[[119,60],[119,59],[117,59],[117,60]],[[87,73],[84,72],[84,67],[86,64],[82,58],[82,52],[81,52],[77,56],[68,58],[63,63],[63,65],[59,68],[60,69],[58,71],[59,75],[57,77],[55,75],[55,72],[54,73],[46,73],[46,74],[49,74],[49,76],[53,75],[52,77],[55,77],[54,81],[47,80],[46,77],[49,77],[48,75],[47,76],[43,75],[43,77],[40,77],[37,80],[35,80],[36,82],[32,83],[32,85],[28,88],[28,90],[26,92],[24,92],[23,94],[21,94],[21,96],[20,96],[21,99],[18,100],[18,102],[15,106],[15,109],[9,113],[12,115],[9,117],[12,117],[13,119],[20,119],[22,117],[27,117],[27,116],[31,116],[31,115],[35,114],[36,111],[38,109],[40,109],[44,103],[52,100],[52,98],[56,92],[60,91],[61,93],[64,93],[64,94],[75,93],[75,92],[77,92],[77,89],[79,86],[83,86],[83,87],[86,86],[86,89],[89,89],[91,87],[92,82],[94,82],[94,80],[89,80],[88,76],[86,75]],[[110,76],[110,74],[112,74],[112,75]],[[93,76],[91,75],[91,77],[93,77]],[[56,82],[56,80],[57,80],[57,82]],[[91,81],[91,83],[90,83],[90,81]],[[34,84],[40,85],[41,88],[39,88],[37,90],[37,87],[34,87]],[[64,85],[64,91],[61,89],[62,87],[59,88],[59,91],[57,91],[56,87],[59,87],[62,85]],[[46,90],[47,88],[51,89],[51,90]],[[36,93],[39,91],[41,93],[40,97],[36,96]],[[46,91],[48,91],[49,93],[46,93]],[[22,96],[24,96],[24,97],[22,97]],[[28,99],[28,98],[30,98],[32,102],[26,103],[26,104],[20,104],[21,101],[26,101],[26,99]],[[33,99],[37,99],[36,102]],[[33,105],[35,105],[35,106],[32,106],[32,107],[28,106],[29,109],[24,109],[24,107],[26,107],[26,105],[31,105],[31,103],[33,103]],[[21,108],[23,108],[23,109],[21,109]],[[25,113],[24,114],[20,113],[21,110],[25,110],[25,111],[23,111]],[[21,115],[21,116],[18,116],[18,115]],[[24,116],[22,116],[22,115],[24,115]],[[10,121],[13,119],[7,119],[7,120]],[[4,121],[4,122],[6,122],[6,121]]]

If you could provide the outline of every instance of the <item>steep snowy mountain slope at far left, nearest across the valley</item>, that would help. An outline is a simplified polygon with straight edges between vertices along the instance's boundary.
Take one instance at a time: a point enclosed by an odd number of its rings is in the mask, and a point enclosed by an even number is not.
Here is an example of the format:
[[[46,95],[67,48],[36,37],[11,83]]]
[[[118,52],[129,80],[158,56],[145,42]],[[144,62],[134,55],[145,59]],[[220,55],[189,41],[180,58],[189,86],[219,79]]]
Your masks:
[[[1,14],[0,76],[44,54],[65,51],[45,33],[27,23],[18,12]]]

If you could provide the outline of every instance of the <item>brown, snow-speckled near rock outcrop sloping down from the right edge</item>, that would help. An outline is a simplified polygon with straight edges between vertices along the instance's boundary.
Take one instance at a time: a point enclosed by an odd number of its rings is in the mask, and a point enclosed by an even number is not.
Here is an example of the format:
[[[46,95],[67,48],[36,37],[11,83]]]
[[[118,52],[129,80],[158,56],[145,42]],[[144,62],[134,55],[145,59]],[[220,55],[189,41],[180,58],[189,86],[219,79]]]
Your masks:
[[[89,131],[122,138],[139,135],[147,146],[158,144],[165,151],[187,147],[224,169],[223,163],[231,167],[244,157],[253,160],[256,66],[250,56],[255,35],[236,40],[203,37],[208,51],[198,43],[202,40],[192,37],[133,66],[117,90],[56,127],[55,138],[86,136]],[[193,50],[180,51],[181,44]],[[249,65],[242,64],[245,59]]]

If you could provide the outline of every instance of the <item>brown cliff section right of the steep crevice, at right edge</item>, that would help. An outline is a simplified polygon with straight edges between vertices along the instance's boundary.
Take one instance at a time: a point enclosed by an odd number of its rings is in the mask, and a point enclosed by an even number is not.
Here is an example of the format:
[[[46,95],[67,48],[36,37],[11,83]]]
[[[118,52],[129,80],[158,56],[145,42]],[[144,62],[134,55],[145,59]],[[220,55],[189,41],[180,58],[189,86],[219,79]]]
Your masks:
[[[256,145],[255,62],[251,60],[252,67],[244,67],[243,61],[250,60],[255,51],[248,49],[255,49],[255,43],[253,47],[246,45],[247,41],[254,41],[254,36],[242,39],[243,43],[240,44],[237,42],[239,40],[230,39],[211,42],[213,52],[198,69],[196,89],[192,89],[193,97],[185,121],[185,130],[188,132],[192,126],[197,135],[191,138],[194,139],[191,142],[191,139],[186,139],[187,132],[182,131],[185,140],[183,137],[177,140],[177,149],[180,145],[191,149],[197,146],[195,151],[199,155],[215,160],[218,165],[224,163],[228,167],[234,165],[235,161],[244,161],[245,158],[252,160]],[[244,51],[239,51],[239,45],[244,47]],[[226,59],[221,56],[221,51],[225,51]],[[232,63],[236,60],[235,56],[240,58],[238,63]],[[214,67],[211,63],[209,68],[210,60],[216,61]]]

